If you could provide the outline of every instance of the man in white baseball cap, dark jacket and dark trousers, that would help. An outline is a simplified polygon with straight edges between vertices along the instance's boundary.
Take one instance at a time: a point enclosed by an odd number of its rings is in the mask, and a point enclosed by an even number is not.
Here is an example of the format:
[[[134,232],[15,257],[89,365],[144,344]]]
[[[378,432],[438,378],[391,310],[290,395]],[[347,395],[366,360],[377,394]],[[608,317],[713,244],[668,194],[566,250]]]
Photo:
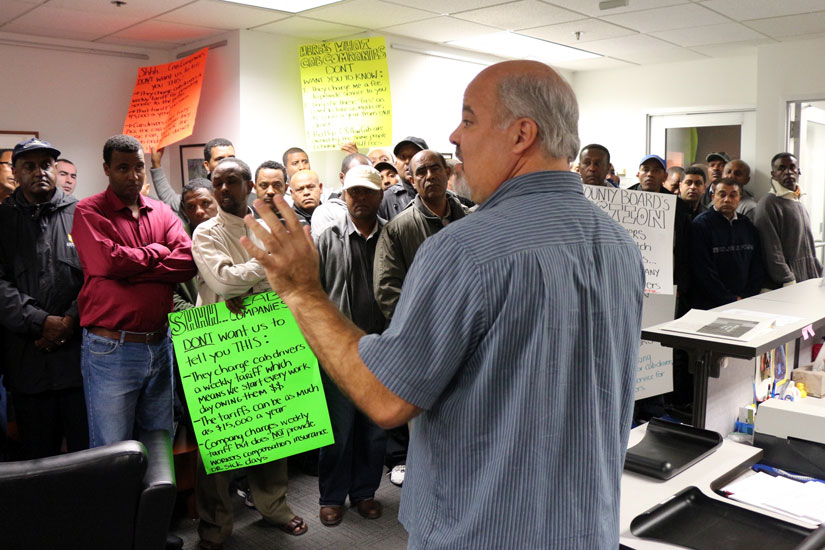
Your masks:
[[[344,177],[347,215],[318,239],[321,283],[330,300],[367,334],[378,334],[387,321],[378,308],[373,287],[373,260],[384,220],[381,174],[371,166],[353,166]],[[375,491],[384,468],[386,434],[353,405],[322,371],[335,443],[323,447],[318,459],[321,523],[338,525],[349,497],[367,519],[381,517]]]

